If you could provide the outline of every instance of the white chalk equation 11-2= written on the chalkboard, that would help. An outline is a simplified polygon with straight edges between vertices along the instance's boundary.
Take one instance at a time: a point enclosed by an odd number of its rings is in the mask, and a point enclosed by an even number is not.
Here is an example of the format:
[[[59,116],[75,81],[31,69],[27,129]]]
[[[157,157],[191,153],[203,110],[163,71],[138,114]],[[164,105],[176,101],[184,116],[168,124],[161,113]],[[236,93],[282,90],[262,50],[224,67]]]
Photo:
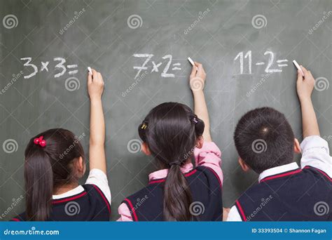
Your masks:
[[[255,65],[265,65],[265,72],[266,73],[273,73],[273,72],[282,72],[282,68],[283,67],[287,67],[288,64],[288,60],[286,59],[278,59],[275,60],[275,54],[272,53],[271,51],[265,51],[264,55],[266,55],[268,57],[268,62],[256,62]],[[236,55],[236,57],[234,58],[234,62],[238,62],[240,63],[240,74],[251,74],[252,73],[252,55],[251,55],[251,51],[247,51],[246,54],[244,54],[243,52],[240,52]],[[248,62],[248,69],[245,72],[244,71],[244,60],[247,60]]]

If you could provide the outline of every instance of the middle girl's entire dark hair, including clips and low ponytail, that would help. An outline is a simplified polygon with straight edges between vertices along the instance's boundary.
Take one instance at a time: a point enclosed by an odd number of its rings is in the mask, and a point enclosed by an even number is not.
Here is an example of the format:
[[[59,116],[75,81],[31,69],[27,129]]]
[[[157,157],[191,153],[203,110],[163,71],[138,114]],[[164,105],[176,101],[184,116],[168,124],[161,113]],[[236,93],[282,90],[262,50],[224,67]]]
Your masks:
[[[164,186],[164,219],[192,220],[192,202],[188,182],[181,172],[191,159],[196,140],[204,131],[204,122],[190,107],[165,102],[154,107],[139,126],[139,136],[163,168],[169,168]]]

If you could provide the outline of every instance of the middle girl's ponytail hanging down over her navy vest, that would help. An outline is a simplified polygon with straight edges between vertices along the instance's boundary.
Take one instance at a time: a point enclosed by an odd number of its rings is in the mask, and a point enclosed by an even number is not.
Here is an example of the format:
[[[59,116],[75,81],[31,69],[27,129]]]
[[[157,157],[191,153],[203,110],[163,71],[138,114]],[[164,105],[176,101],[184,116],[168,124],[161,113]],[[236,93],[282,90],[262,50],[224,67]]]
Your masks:
[[[191,191],[180,166],[170,167],[164,186],[164,219],[166,221],[190,221]]]

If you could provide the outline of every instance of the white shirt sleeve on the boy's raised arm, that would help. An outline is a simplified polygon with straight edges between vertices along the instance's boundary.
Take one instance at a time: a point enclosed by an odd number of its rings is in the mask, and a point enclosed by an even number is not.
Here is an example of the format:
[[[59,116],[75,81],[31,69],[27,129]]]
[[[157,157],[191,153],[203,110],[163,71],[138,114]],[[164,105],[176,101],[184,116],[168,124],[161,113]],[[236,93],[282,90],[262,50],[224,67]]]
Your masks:
[[[302,150],[301,168],[312,166],[324,171],[332,178],[332,157],[326,140],[317,135],[309,136],[301,142],[300,147]]]

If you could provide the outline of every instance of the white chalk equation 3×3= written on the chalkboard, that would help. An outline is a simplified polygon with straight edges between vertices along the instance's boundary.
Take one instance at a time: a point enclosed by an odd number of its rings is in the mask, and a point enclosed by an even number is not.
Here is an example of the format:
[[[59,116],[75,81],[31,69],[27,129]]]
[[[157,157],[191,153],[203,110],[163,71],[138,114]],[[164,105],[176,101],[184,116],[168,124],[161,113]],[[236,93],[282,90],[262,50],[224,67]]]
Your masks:
[[[50,61],[46,61],[46,62],[42,62],[41,61],[41,65],[38,68],[36,65],[34,65],[32,63],[32,58],[27,57],[27,58],[21,58],[20,60],[25,61],[25,64],[23,66],[25,67],[30,67],[32,69],[32,72],[29,75],[24,76],[25,79],[29,79],[32,76],[35,76],[38,72],[48,72],[48,65],[50,63]],[[78,67],[78,65],[74,64],[74,65],[65,65],[66,64],[66,60],[64,58],[53,58],[53,61],[57,63],[57,65],[55,65],[55,70],[58,70],[58,73],[54,75],[55,78],[60,77],[62,75],[64,75],[67,72],[67,69],[69,69],[68,74],[69,75],[74,75],[78,73],[78,69],[76,69]]]

